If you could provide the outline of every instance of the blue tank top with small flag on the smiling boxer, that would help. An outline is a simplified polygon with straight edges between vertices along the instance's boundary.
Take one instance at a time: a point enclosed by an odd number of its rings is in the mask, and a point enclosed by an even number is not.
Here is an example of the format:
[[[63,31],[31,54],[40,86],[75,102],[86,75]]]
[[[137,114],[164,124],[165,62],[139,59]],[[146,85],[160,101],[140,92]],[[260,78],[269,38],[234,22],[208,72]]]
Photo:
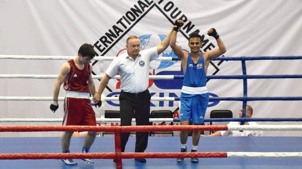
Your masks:
[[[203,53],[200,53],[197,64],[194,64],[191,53],[189,53],[186,73],[182,85],[187,87],[204,87],[206,85],[206,74],[204,66],[205,59],[203,58]]]

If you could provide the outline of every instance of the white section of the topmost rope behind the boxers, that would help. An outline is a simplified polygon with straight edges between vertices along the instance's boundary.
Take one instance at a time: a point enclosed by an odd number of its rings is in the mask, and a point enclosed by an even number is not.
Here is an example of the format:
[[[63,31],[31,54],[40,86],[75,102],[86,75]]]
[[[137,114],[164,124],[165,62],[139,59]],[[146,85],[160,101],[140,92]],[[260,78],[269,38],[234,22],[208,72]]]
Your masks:
[[[29,56],[29,55],[0,55],[0,59],[20,60],[70,60],[75,56]],[[116,56],[94,57],[92,60],[113,60]],[[172,57],[158,57],[156,60],[172,60]]]

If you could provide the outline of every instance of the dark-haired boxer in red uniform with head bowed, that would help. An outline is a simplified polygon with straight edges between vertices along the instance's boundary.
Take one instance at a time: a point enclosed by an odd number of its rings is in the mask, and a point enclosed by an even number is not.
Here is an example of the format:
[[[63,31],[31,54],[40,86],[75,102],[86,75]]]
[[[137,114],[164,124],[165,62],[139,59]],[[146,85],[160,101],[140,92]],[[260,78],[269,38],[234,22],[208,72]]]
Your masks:
[[[63,125],[85,125],[96,126],[96,117],[90,103],[90,92],[92,96],[96,93],[92,79],[91,60],[95,56],[92,45],[83,44],[78,51],[78,56],[68,60],[61,68],[57,81],[54,85],[53,102],[50,109],[55,112],[58,108],[58,96],[61,84],[64,82],[66,96],[64,99]],[[96,104],[101,105],[101,102]],[[69,153],[70,138],[73,131],[66,131],[62,136],[62,151]],[[83,145],[82,153],[88,153],[96,136],[96,132],[88,132]],[[94,164],[91,159],[82,159],[88,164]],[[72,159],[61,159],[68,165],[77,165]]]

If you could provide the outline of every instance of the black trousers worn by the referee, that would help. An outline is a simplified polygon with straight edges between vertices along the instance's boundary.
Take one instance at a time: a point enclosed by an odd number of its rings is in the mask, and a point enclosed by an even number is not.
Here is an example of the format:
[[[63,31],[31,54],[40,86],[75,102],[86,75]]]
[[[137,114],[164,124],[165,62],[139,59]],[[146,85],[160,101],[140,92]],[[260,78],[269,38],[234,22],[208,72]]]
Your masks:
[[[150,93],[145,90],[141,93],[120,92],[120,124],[131,126],[135,112],[137,126],[149,125],[150,118]],[[125,152],[125,146],[130,133],[120,134],[121,151]],[[136,132],[135,152],[144,152],[148,145],[149,132]]]

